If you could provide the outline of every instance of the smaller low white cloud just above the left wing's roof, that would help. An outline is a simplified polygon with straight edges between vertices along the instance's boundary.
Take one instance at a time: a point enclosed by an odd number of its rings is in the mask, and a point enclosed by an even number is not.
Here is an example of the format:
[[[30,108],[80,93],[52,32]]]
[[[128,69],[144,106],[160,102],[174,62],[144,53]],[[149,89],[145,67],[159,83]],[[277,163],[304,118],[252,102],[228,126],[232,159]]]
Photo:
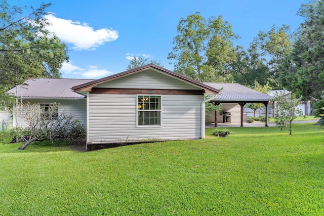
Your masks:
[[[84,78],[101,78],[112,74],[108,70],[98,69],[97,66],[90,65],[87,69],[84,69],[67,62],[63,63],[60,71],[65,74],[80,75]]]

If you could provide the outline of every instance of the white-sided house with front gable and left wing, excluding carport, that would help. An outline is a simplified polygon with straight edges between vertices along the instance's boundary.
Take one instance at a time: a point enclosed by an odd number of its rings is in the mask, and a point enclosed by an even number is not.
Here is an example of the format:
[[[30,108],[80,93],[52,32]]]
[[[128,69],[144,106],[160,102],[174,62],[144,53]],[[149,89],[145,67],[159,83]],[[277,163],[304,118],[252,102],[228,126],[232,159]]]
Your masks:
[[[97,80],[30,79],[22,103],[74,113],[87,127],[87,149],[116,143],[205,138],[205,103],[219,90],[173,71],[145,65]],[[205,100],[205,95],[214,97]],[[23,109],[21,109],[23,112]],[[16,125],[24,125],[14,114]]]

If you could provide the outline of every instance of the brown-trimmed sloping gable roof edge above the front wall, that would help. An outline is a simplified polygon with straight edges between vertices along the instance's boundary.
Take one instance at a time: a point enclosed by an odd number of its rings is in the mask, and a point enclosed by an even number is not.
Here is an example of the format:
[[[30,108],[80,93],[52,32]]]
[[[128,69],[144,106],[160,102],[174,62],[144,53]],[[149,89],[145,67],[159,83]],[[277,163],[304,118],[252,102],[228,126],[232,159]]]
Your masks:
[[[76,91],[76,92],[91,92],[92,88],[96,87],[98,84],[108,82],[108,81],[111,81],[111,80],[114,80],[114,79],[118,79],[118,78],[121,78],[121,77],[125,77],[125,76],[128,76],[128,75],[134,74],[134,73],[138,73],[138,72],[147,70],[149,68],[151,68],[153,70],[156,70],[158,72],[164,73],[164,74],[166,74],[168,76],[174,77],[174,78],[176,78],[178,80],[181,80],[181,81],[187,82],[189,84],[195,85],[196,87],[199,87],[199,88],[203,89],[205,91],[205,93],[215,94],[215,93],[220,92],[218,89],[216,89],[216,88],[214,88],[214,87],[212,87],[210,85],[207,85],[207,84],[204,84],[202,82],[198,82],[196,80],[190,79],[190,78],[188,78],[186,76],[183,76],[183,75],[181,75],[179,73],[175,73],[175,72],[173,72],[171,70],[168,70],[166,68],[159,67],[159,66],[157,66],[155,64],[144,65],[144,66],[134,68],[134,69],[131,69],[131,70],[127,70],[127,71],[124,71],[124,72],[121,72],[121,73],[113,74],[111,76],[103,77],[101,79],[96,79],[96,80],[93,80],[93,81],[90,81],[90,82],[87,82],[87,83],[79,84],[79,85],[76,85],[76,86],[72,87],[72,90]]]

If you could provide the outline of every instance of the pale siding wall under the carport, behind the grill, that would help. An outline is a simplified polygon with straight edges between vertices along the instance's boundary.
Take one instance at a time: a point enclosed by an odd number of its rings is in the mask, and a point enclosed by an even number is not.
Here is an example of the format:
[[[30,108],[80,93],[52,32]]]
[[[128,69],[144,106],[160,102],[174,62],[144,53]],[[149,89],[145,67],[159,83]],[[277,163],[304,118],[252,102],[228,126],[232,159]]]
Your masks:
[[[223,104],[222,110],[217,112],[217,123],[223,123],[223,111],[231,112],[231,123],[240,123],[240,110],[241,107],[238,104]],[[211,115],[206,116],[206,123],[215,122],[215,111],[210,112]]]

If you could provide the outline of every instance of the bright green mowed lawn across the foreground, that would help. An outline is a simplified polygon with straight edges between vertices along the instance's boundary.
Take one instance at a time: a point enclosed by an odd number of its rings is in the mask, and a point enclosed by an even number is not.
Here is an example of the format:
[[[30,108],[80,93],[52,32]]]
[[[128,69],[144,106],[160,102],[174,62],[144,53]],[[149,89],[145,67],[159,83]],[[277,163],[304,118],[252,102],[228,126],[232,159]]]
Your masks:
[[[0,145],[0,215],[323,215],[324,128],[92,152]]]

